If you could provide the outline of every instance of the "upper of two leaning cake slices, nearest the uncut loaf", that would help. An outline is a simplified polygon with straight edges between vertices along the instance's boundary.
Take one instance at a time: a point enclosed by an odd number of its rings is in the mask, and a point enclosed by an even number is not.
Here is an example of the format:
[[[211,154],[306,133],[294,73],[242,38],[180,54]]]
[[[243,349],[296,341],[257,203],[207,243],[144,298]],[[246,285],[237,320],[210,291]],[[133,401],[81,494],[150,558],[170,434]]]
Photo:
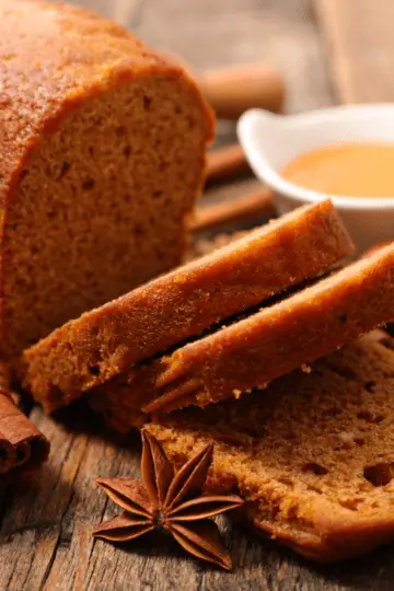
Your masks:
[[[300,208],[58,328],[25,351],[25,385],[51,412],[351,252],[331,201]]]

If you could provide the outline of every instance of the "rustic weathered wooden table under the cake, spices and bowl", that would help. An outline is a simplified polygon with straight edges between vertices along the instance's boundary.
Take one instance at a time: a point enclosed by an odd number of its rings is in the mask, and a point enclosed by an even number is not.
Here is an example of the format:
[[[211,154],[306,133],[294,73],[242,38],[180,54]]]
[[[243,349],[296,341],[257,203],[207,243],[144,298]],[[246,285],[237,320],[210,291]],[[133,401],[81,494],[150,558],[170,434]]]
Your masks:
[[[287,111],[394,100],[393,0],[80,0],[196,70],[254,60],[281,69]],[[219,141],[233,137],[220,125]],[[210,190],[205,202],[250,190],[254,179]],[[28,408],[26,409],[28,410]],[[51,441],[47,465],[0,491],[0,590],[345,590],[394,588],[393,546],[339,566],[316,566],[222,521],[232,573],[153,537],[115,548],[92,526],[115,512],[93,480],[138,475],[139,438],[119,445],[76,407],[31,417]],[[76,425],[78,416],[79,425]],[[89,425],[89,429],[86,427]]]

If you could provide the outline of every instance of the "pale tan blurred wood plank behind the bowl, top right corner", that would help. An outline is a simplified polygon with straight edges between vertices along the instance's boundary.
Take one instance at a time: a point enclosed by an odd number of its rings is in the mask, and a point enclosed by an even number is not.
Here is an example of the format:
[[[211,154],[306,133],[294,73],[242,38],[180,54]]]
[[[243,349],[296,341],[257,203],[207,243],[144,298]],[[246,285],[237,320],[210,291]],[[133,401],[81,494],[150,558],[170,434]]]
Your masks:
[[[314,0],[339,103],[394,100],[394,2]]]

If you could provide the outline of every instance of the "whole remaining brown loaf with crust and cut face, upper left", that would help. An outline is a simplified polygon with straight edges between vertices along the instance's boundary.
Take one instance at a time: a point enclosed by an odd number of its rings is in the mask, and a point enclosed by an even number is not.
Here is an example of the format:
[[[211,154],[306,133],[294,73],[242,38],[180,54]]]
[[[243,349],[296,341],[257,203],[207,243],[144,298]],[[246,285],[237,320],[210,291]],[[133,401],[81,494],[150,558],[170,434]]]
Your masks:
[[[212,117],[175,63],[94,13],[0,0],[0,343],[179,264]]]

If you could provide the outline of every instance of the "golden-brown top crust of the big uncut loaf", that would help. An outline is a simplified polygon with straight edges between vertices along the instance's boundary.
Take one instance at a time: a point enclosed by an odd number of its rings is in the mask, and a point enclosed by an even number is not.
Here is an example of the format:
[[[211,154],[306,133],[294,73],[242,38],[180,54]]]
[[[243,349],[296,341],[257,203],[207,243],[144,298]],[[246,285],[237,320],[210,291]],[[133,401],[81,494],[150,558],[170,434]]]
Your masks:
[[[206,140],[213,137],[212,112],[192,78],[93,12],[39,0],[1,0],[0,60],[4,81],[0,95],[1,243],[9,204],[32,153],[86,101],[144,77],[176,79],[200,106],[206,118]],[[3,283],[0,257],[0,302]],[[2,318],[0,310],[4,349]],[[5,349],[2,355],[7,355]]]

